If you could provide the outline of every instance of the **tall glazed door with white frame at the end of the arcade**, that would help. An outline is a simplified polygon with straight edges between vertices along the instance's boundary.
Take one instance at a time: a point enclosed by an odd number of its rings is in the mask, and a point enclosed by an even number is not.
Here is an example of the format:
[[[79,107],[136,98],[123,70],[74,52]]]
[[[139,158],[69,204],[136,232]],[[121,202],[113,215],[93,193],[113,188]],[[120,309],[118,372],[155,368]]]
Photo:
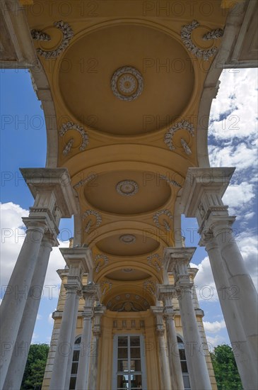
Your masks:
[[[112,389],[147,389],[143,335],[115,335]]]

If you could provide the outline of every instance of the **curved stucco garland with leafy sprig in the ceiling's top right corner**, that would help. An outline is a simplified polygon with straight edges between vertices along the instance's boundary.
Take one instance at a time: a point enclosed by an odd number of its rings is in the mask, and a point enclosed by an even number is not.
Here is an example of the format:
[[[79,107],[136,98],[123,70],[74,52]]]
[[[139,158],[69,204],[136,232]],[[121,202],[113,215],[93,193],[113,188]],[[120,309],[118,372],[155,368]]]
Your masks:
[[[213,46],[211,49],[201,49],[198,48],[197,45],[194,45],[192,41],[192,31],[195,28],[198,28],[200,26],[198,21],[192,21],[192,23],[189,23],[185,26],[182,26],[181,28],[181,38],[184,43],[184,46],[189,50],[189,52],[192,52],[193,55],[197,58],[201,58],[204,61],[208,61],[209,57],[212,57],[216,52],[218,51],[218,48],[216,46]],[[216,31],[216,33],[215,33]],[[221,29],[212,30],[209,33],[206,33],[203,37],[204,40],[214,39],[213,38],[221,38]]]

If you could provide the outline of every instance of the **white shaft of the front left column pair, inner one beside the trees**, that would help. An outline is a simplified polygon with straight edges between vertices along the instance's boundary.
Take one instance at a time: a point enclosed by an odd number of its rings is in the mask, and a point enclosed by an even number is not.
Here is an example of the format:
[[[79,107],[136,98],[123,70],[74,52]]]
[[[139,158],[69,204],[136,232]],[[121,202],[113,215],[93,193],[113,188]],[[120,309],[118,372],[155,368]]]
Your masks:
[[[39,255],[37,257],[37,267],[33,274],[28,298],[25,303],[23,318],[20,323],[20,328],[16,338],[16,346],[13,350],[11,363],[4,382],[4,390],[20,389],[20,384],[23,379],[30,342],[33,338],[33,330],[37,318],[37,311],[40,306],[40,299],[44,288],[45,275],[47,272],[47,264],[49,255],[52,251],[52,246],[56,245],[56,240],[45,235],[42,239]]]

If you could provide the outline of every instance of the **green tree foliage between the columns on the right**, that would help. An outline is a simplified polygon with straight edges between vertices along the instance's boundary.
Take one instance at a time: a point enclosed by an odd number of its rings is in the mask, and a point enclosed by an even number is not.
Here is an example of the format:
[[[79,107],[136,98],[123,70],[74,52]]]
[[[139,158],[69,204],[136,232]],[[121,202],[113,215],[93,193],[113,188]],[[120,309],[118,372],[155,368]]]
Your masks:
[[[242,390],[238,367],[229,345],[218,345],[211,352],[218,390]]]

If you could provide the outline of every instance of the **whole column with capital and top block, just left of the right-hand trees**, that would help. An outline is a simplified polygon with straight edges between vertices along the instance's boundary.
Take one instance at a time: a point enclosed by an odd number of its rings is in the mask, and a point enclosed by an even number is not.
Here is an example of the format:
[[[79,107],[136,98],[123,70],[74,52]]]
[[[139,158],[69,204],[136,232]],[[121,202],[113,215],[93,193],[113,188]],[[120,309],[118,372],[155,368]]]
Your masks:
[[[167,247],[165,248],[164,266],[168,272],[173,272],[175,289],[180,305],[180,316],[184,335],[184,348],[189,369],[189,379],[192,390],[211,390],[208,367],[201,342],[197,318],[192,301],[192,287],[187,266],[194,254],[195,248]],[[206,347],[206,346],[205,346]]]

